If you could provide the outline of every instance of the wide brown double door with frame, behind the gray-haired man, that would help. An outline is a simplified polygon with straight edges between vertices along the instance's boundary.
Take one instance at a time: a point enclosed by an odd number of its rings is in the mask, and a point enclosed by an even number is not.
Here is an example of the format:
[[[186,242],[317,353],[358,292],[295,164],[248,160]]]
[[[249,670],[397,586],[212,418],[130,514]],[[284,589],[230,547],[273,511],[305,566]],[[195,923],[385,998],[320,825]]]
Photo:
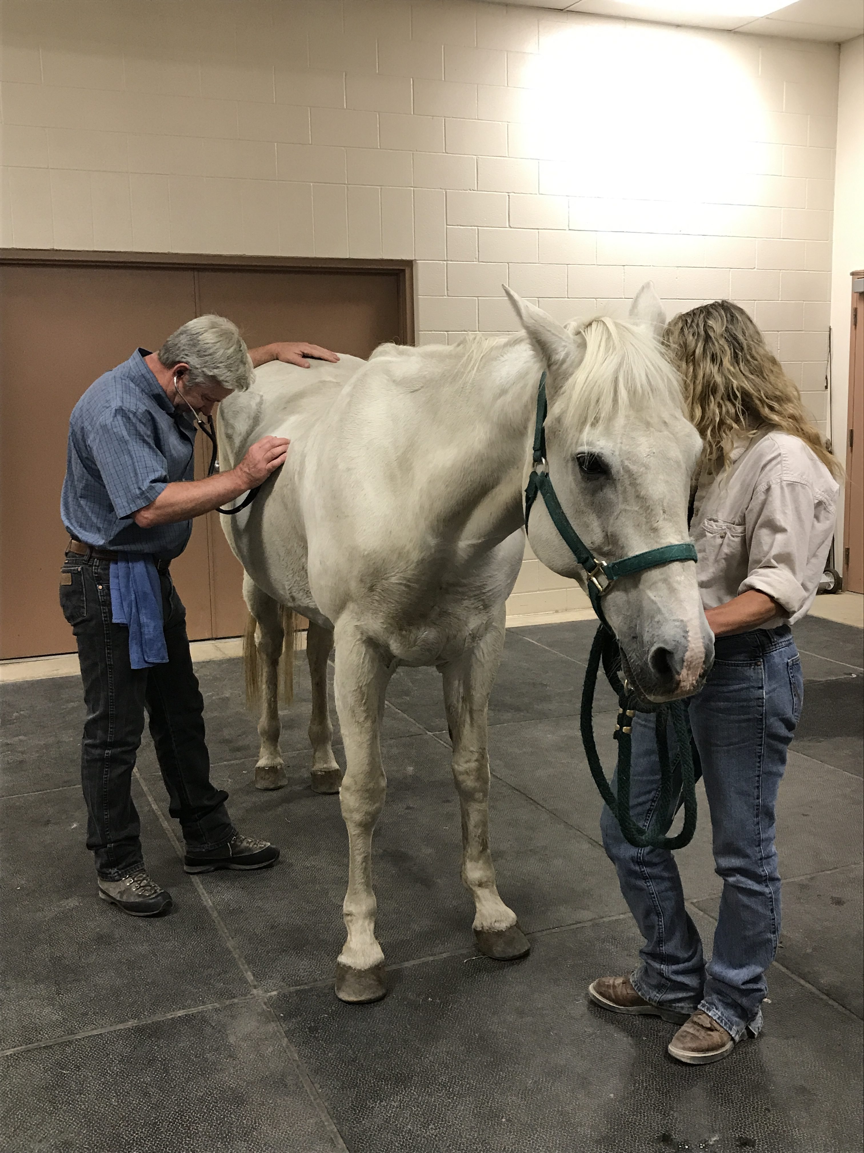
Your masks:
[[[242,264],[243,258],[234,258]],[[202,312],[232,317],[250,347],[311,340],[357,356],[410,339],[406,266],[326,271],[213,257],[5,253],[0,266],[0,658],[75,649],[58,602],[66,533],[60,490],[69,414],[103,372],[135,348],[158,348]],[[196,476],[210,445],[198,437]],[[243,630],[242,570],[219,517],[195,521],[172,573],[189,636]]]

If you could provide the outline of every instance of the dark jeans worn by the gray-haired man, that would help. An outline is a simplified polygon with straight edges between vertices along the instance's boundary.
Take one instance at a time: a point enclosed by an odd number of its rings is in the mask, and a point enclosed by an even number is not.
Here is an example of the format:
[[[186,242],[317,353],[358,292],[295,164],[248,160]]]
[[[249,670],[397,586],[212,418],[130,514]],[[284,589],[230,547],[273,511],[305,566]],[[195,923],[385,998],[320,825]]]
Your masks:
[[[210,782],[204,700],[192,671],[185,609],[170,575],[160,575],[168,663],[132,669],[129,630],[112,620],[109,570],[107,560],[67,553],[60,605],[78,642],[88,711],[81,744],[88,849],[99,876],[116,881],[144,861],[131,776],[145,710],[168,812],[180,821],[187,844],[221,844],[235,830],[225,807],[228,793]]]

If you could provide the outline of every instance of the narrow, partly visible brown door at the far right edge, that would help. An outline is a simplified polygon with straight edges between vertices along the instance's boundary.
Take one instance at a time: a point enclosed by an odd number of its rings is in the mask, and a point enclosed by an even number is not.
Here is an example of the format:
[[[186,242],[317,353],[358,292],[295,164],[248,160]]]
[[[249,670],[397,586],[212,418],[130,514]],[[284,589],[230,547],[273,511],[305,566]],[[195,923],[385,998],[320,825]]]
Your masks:
[[[843,588],[864,593],[864,272],[852,273]]]

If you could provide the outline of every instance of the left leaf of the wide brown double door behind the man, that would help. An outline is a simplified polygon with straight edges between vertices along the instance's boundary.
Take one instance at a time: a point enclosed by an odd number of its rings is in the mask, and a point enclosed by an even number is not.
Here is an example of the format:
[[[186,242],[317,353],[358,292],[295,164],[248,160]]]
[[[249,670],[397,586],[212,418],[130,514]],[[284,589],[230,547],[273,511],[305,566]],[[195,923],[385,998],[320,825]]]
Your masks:
[[[103,372],[195,315],[195,282],[183,269],[6,265],[0,274],[0,655],[68,653],[58,588],[69,414]],[[194,533],[176,565],[192,636],[210,635],[207,573],[206,534]]]

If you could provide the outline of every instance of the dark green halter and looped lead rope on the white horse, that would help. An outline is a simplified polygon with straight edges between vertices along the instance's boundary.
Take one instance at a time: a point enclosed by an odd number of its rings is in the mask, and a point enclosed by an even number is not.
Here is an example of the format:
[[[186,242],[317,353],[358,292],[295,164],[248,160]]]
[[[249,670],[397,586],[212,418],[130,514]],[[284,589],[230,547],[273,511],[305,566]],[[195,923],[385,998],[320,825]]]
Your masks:
[[[582,691],[582,743],[585,748],[589,768],[602,799],[612,811],[621,831],[631,845],[654,849],[683,849],[692,839],[696,830],[696,781],[702,775],[699,756],[692,744],[687,709],[680,701],[658,707],[646,706],[621,671],[621,650],[614,631],[602,611],[602,597],[613,588],[621,576],[657,568],[660,565],[677,560],[696,560],[696,549],[687,544],[666,544],[660,549],[649,549],[637,552],[623,560],[604,563],[598,560],[585,545],[582,537],[567,519],[552,485],[552,478],[546,462],[546,374],[540,377],[537,391],[537,423],[535,425],[533,468],[525,488],[525,528],[531,515],[531,507],[538,493],[543,497],[552,523],[576,560],[585,570],[588,593],[600,621],[594,636],[585,671],[585,683]],[[606,679],[619,699],[619,717],[615,725],[617,740],[617,794],[606,779],[593,732],[593,703],[597,688],[597,673],[602,663]],[[660,759],[660,796],[654,806],[654,814],[647,829],[641,828],[630,816],[630,730],[636,713],[657,714],[657,746]],[[677,751],[669,758],[668,729],[672,723]],[[684,806],[684,826],[676,837],[666,834],[682,802]]]

